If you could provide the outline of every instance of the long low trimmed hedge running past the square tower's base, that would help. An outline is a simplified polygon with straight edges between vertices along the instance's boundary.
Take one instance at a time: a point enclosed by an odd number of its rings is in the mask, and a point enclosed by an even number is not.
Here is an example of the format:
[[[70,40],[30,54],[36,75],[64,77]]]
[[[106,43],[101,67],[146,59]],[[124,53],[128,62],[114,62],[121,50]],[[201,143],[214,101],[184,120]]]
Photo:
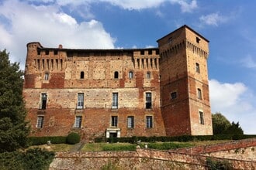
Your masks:
[[[124,142],[124,143],[137,143],[142,142],[155,142],[155,141],[216,141],[216,140],[240,140],[246,138],[256,138],[256,134],[215,134],[215,135],[183,135],[183,136],[152,136],[152,137],[130,137],[130,138],[95,138],[95,142],[107,141],[109,143]]]

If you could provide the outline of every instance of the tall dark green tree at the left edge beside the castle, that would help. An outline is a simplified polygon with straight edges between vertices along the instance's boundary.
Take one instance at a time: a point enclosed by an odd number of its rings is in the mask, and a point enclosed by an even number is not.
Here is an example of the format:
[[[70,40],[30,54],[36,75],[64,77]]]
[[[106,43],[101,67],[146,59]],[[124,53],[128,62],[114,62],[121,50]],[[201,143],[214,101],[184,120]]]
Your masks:
[[[29,134],[22,98],[23,72],[10,63],[9,53],[0,50],[0,152],[26,147]]]

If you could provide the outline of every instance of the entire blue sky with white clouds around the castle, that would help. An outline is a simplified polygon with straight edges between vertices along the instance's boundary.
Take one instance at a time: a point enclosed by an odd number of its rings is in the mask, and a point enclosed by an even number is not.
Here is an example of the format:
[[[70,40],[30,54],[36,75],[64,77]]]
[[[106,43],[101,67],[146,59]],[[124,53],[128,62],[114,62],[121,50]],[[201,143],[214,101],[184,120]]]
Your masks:
[[[256,2],[205,0],[0,0],[0,49],[23,70],[26,44],[144,48],[188,25],[209,39],[212,112],[256,134]]]

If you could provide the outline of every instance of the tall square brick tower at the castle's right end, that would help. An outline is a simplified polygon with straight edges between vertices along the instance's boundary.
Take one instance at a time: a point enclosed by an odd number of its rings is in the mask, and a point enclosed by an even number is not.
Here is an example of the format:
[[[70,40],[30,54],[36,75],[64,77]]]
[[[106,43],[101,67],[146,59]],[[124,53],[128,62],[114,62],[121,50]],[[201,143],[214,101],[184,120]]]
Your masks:
[[[182,26],[157,42],[166,134],[213,134],[207,72],[209,41],[189,26]]]

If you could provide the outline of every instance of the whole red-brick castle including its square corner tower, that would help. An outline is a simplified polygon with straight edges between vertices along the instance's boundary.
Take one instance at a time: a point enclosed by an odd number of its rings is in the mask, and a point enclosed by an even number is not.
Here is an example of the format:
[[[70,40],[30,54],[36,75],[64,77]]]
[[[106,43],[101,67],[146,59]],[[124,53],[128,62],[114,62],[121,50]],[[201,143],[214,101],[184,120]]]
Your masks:
[[[65,49],[27,44],[23,97],[33,136],[213,134],[209,41],[189,26],[158,48]]]

